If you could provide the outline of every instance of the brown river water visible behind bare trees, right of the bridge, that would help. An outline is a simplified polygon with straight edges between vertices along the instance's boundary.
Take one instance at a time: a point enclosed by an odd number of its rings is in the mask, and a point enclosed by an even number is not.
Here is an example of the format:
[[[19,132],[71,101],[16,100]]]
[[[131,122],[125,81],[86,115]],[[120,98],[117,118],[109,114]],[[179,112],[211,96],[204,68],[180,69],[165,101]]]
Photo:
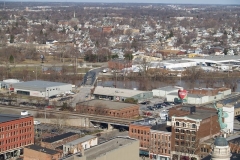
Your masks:
[[[185,89],[192,89],[192,88],[206,88],[206,83],[202,81],[196,81],[194,84],[190,84],[185,80],[175,80],[171,83],[165,83],[160,81],[150,81],[148,82],[152,89],[165,87],[165,86],[181,86]],[[236,80],[237,88],[235,92],[240,92],[240,80]],[[98,86],[104,87],[114,87],[115,81],[98,81]],[[214,82],[214,87],[224,87],[223,81]],[[140,89],[140,83],[137,81],[116,81],[116,88],[126,88],[126,89]]]

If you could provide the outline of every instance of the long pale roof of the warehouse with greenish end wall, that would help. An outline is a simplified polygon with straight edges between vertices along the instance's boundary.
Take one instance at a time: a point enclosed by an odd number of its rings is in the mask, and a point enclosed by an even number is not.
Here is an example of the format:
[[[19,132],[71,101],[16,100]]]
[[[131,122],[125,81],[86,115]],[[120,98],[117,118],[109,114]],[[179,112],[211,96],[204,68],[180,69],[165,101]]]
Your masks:
[[[94,90],[94,94],[105,95],[105,96],[120,96],[120,97],[133,97],[138,94],[147,93],[152,91],[139,91],[132,89],[122,89],[122,88],[111,88],[97,86]]]

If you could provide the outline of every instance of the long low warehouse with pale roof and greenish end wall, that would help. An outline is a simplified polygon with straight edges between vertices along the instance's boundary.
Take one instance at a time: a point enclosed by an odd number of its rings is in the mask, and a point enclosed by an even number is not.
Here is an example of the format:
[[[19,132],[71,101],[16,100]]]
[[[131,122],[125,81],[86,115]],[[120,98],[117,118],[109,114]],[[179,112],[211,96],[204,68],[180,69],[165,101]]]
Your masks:
[[[111,88],[97,86],[94,89],[93,96],[96,99],[105,99],[113,101],[125,101],[127,98],[133,98],[138,102],[147,101],[153,98],[152,91],[139,91],[122,88]]]

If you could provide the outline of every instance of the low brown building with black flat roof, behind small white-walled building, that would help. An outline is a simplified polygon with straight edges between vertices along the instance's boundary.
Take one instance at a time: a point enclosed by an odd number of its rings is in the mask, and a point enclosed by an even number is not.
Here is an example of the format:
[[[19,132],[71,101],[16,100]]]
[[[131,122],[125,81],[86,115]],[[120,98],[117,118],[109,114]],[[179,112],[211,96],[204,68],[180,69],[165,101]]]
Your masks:
[[[78,138],[79,135],[77,133],[67,132],[54,137],[42,139],[41,147],[46,147],[55,150],[56,148],[63,146],[64,144],[76,140]]]

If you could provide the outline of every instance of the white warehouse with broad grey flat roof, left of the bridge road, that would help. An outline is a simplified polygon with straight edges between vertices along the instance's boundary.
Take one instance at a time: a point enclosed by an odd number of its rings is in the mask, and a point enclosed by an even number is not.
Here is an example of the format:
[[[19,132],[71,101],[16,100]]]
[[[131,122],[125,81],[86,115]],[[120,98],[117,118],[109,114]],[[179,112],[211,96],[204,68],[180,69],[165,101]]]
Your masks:
[[[72,84],[36,80],[15,83],[13,84],[13,88],[17,94],[48,98],[71,92]]]

